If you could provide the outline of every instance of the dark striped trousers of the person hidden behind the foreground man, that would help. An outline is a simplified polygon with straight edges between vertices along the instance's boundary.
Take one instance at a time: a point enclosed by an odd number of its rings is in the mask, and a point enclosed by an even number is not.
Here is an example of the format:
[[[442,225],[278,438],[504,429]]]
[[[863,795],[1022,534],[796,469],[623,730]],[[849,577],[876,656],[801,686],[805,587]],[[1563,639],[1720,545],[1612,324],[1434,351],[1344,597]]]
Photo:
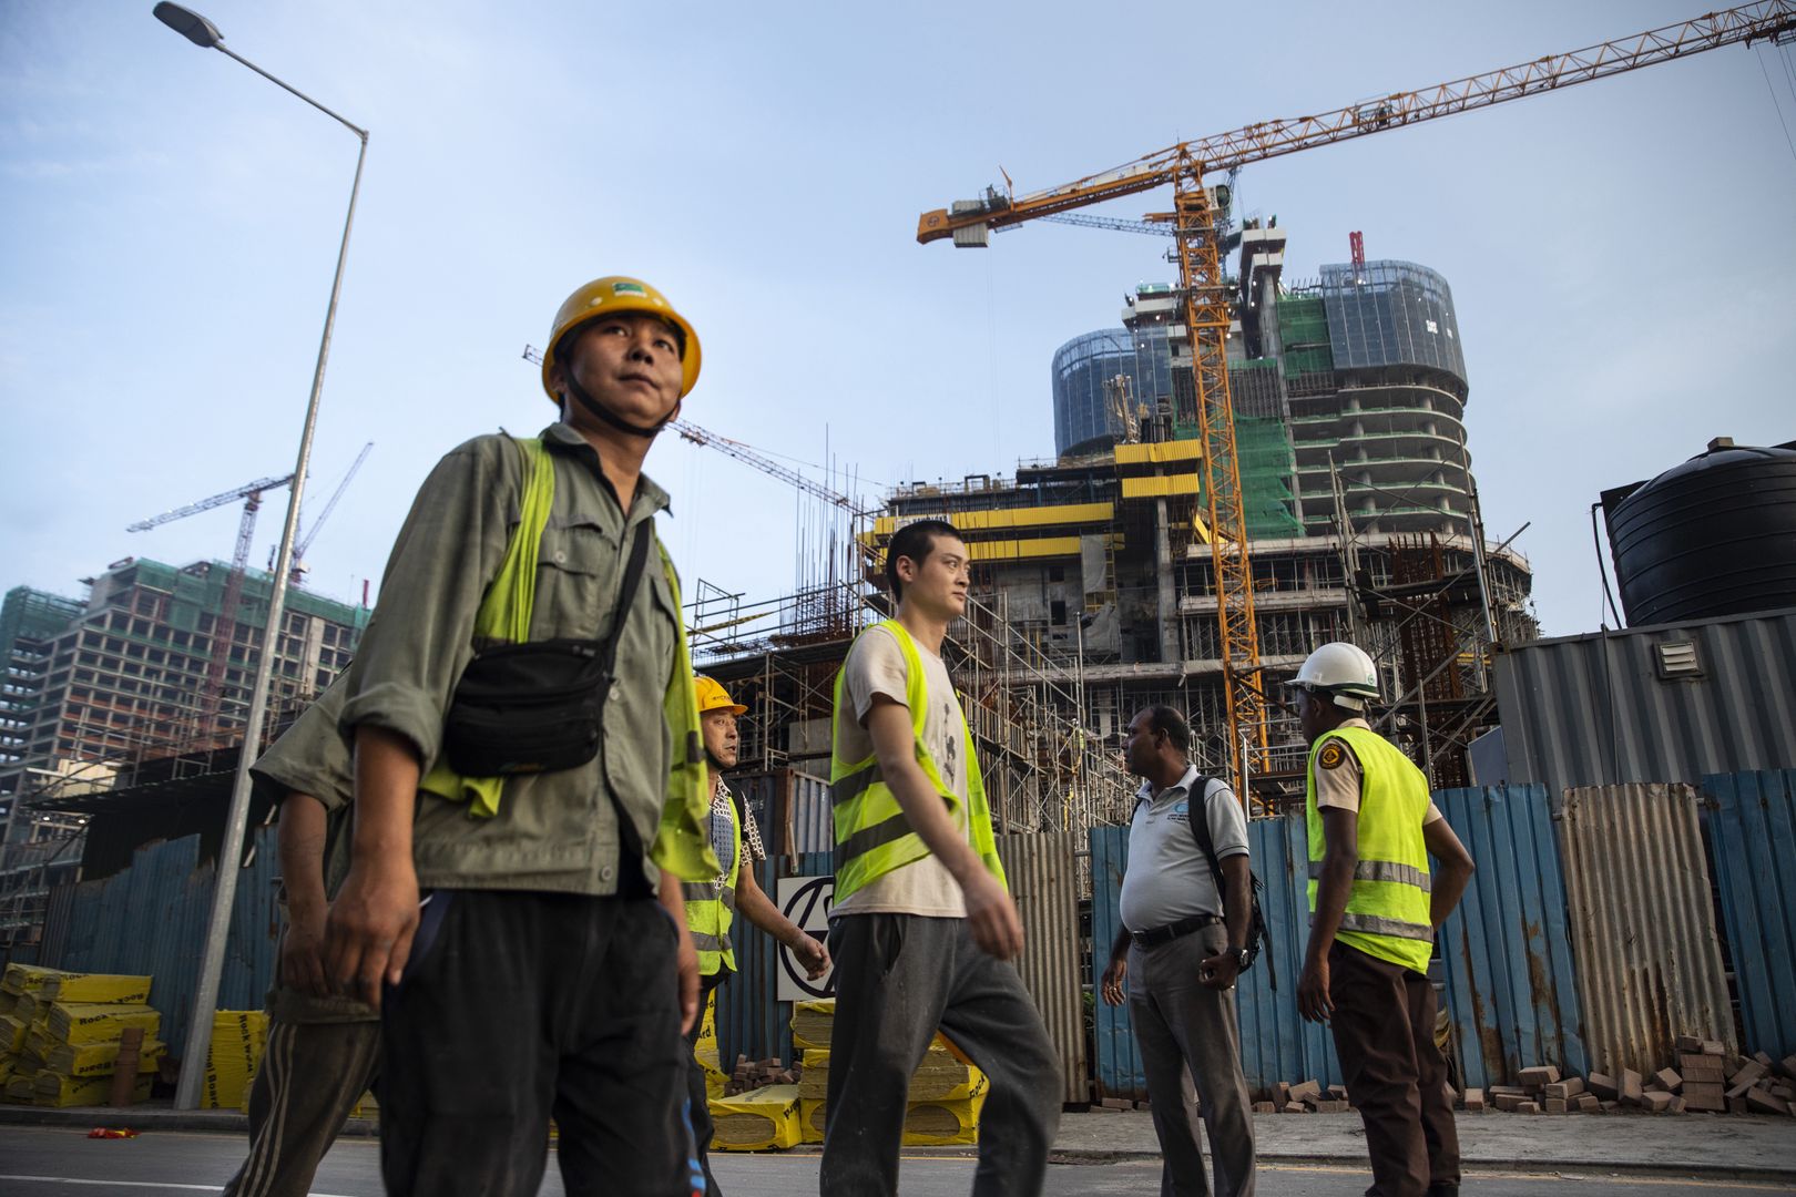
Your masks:
[[[250,1086],[250,1158],[226,1181],[226,1197],[305,1197],[379,1061],[377,1021],[277,1019]]]

